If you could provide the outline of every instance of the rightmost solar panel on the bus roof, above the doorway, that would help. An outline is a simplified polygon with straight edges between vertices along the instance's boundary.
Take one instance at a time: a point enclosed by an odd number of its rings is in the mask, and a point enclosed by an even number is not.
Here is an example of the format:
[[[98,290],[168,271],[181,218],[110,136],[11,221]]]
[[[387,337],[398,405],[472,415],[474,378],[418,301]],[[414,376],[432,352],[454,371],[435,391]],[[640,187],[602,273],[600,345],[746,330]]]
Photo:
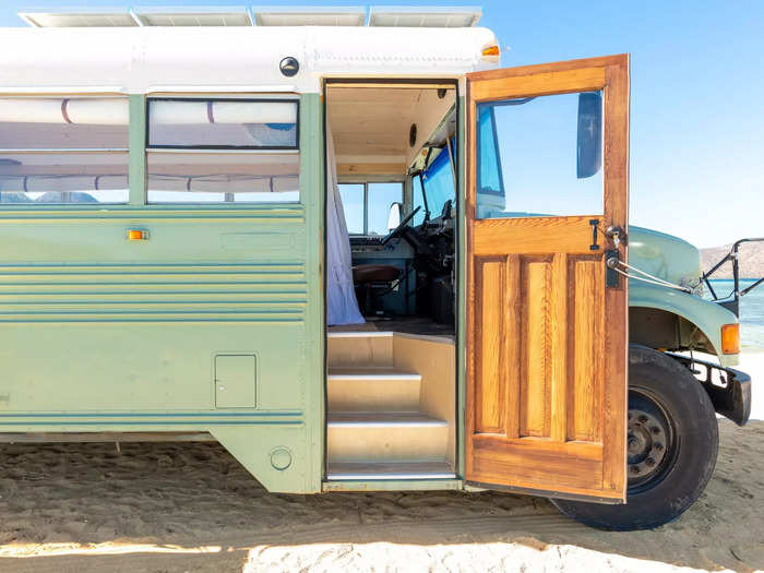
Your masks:
[[[372,7],[369,25],[380,27],[471,27],[480,21],[479,8]]]

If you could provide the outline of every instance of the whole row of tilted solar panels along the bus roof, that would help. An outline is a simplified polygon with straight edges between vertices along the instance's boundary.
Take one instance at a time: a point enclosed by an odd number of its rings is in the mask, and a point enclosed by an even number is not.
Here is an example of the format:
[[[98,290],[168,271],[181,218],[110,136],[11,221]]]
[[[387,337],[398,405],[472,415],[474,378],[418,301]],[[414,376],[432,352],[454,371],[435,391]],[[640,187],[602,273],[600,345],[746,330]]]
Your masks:
[[[150,7],[25,10],[19,17],[33,27],[470,27],[481,14],[467,7]]]

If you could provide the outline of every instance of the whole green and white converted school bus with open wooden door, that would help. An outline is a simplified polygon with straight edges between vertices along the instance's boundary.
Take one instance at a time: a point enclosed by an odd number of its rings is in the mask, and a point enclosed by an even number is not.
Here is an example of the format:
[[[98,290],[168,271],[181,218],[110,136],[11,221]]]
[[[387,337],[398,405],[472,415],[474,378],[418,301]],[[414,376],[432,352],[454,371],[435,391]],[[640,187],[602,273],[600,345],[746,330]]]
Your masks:
[[[630,351],[628,244],[700,267],[629,230],[628,56],[501,68],[459,10],[166,12],[0,36],[3,440],[213,439],[270,491],[612,528],[694,501],[749,381],[685,287],[632,286]]]

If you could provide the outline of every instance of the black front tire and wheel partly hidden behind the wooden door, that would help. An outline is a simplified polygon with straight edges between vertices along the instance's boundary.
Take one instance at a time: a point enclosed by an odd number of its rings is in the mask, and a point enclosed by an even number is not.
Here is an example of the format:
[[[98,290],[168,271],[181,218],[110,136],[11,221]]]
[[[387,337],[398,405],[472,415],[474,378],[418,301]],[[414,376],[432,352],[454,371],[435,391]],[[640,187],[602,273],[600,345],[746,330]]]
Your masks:
[[[685,367],[662,353],[630,347],[629,409],[626,504],[552,500],[592,527],[623,532],[669,523],[694,503],[714,473],[714,406]]]

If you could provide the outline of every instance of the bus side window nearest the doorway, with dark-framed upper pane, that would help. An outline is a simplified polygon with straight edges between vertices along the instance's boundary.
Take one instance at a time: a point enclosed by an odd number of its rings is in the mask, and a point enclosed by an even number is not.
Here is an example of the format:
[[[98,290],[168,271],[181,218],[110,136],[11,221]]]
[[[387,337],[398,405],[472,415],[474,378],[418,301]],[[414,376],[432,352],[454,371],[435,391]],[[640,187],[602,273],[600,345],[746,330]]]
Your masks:
[[[298,202],[297,99],[148,100],[148,203]]]

